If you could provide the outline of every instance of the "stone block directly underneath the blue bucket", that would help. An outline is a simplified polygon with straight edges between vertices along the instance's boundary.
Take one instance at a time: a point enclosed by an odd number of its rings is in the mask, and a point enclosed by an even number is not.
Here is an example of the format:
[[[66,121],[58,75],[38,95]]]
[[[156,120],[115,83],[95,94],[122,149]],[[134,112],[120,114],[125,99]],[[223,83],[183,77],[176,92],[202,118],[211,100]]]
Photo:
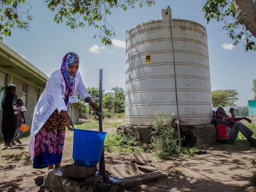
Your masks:
[[[60,167],[62,174],[73,178],[88,178],[95,176],[97,172],[96,166],[82,166],[76,164],[69,164]]]

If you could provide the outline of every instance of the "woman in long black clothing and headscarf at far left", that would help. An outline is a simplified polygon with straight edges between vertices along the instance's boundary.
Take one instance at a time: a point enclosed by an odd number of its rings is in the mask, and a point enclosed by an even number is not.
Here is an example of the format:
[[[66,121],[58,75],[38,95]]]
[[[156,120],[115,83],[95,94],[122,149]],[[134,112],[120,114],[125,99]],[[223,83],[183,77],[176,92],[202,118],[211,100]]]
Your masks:
[[[5,86],[2,98],[2,133],[4,136],[3,150],[12,147],[11,142],[14,137],[17,124],[17,95],[16,86],[8,84]]]

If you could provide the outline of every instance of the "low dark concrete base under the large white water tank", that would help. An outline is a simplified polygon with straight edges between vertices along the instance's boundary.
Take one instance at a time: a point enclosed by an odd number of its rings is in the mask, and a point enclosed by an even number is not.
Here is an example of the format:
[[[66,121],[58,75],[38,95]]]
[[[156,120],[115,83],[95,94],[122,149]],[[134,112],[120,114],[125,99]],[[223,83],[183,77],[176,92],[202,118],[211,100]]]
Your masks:
[[[127,124],[119,124],[117,133],[126,136],[133,136],[143,143],[150,142],[151,130],[153,126],[134,126]],[[213,124],[180,126],[181,136],[185,137],[183,146],[206,146],[216,143],[216,129]]]

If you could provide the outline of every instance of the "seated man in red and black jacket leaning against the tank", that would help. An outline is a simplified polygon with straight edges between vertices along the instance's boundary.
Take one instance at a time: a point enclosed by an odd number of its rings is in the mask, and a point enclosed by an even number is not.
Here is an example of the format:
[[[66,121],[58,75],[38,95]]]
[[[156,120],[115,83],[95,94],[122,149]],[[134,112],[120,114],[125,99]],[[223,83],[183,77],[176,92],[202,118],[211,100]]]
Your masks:
[[[216,117],[212,120],[217,130],[218,140],[233,144],[238,136],[238,130],[248,139],[250,146],[256,146],[256,140],[252,137],[253,131],[242,124],[239,120],[247,118],[224,118],[223,111],[217,110]]]

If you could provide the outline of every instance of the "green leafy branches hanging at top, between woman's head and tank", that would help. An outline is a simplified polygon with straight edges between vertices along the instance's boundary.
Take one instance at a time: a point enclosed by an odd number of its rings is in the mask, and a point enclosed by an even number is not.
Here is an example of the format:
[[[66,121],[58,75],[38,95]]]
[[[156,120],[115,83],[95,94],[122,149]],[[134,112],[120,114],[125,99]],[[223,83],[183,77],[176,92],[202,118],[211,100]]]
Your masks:
[[[98,36],[102,43],[111,45],[111,38],[115,36],[114,28],[107,22],[107,16],[111,15],[112,8],[141,8],[152,6],[154,0],[46,0],[48,8],[56,11],[54,21],[58,24],[62,20],[66,25],[75,29],[84,26],[93,26],[99,29],[94,38]]]

